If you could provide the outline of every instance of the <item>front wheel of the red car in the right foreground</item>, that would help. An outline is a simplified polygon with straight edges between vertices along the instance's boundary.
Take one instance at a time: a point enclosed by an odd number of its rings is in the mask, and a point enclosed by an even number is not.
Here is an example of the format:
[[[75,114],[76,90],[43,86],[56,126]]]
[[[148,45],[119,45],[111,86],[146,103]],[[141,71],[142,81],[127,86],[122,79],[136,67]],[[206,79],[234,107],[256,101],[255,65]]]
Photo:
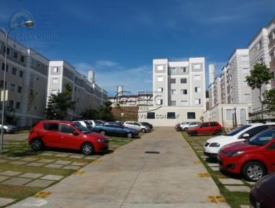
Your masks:
[[[242,174],[246,180],[257,181],[266,174],[265,166],[259,162],[252,161],[243,166]]]

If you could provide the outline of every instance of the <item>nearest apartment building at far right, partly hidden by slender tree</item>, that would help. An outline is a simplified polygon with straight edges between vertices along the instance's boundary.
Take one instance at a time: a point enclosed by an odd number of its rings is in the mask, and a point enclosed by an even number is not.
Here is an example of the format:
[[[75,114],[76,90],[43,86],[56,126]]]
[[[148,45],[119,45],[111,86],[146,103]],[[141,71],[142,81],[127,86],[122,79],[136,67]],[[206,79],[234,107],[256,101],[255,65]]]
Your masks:
[[[256,63],[263,63],[270,67],[274,72],[275,70],[275,56],[274,56],[274,45],[275,45],[275,18],[270,21],[264,28],[261,28],[259,32],[253,37],[253,39],[248,44],[249,56],[250,56],[250,69],[254,67]],[[270,90],[275,86],[274,79],[270,81],[269,84],[263,85],[261,92],[265,90]],[[261,102],[258,89],[252,90],[252,109],[254,116],[259,115],[261,112]],[[265,118],[269,116],[264,115]]]

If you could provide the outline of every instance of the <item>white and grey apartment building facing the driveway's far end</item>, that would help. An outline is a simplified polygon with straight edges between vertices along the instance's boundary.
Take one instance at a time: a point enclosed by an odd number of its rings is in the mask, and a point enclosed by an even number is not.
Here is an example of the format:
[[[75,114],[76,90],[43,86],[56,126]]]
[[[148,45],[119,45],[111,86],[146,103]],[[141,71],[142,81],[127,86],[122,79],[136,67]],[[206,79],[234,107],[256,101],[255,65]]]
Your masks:
[[[153,106],[139,111],[139,121],[160,126],[199,121],[206,110],[205,92],[204,57],[153,59]]]

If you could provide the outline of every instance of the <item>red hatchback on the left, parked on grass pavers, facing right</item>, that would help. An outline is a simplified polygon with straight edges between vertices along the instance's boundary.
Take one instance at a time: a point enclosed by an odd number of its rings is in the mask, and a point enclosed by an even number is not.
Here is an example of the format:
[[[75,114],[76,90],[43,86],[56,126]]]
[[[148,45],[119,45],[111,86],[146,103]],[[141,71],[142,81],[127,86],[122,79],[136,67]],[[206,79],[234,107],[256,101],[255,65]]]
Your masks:
[[[58,147],[79,149],[86,155],[104,152],[109,148],[106,136],[67,121],[40,121],[32,127],[28,143],[35,151],[43,147]]]

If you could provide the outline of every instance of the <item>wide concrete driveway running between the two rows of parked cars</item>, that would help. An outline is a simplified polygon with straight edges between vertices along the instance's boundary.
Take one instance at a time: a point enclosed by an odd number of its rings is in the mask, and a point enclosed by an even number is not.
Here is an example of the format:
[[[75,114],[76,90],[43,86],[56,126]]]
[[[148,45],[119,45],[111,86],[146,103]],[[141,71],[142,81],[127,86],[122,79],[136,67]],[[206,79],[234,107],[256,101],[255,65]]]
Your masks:
[[[85,174],[45,189],[52,192],[47,198],[30,197],[11,207],[229,207],[208,202],[219,189],[210,177],[199,178],[206,169],[197,160],[179,132],[159,127],[87,165]]]

